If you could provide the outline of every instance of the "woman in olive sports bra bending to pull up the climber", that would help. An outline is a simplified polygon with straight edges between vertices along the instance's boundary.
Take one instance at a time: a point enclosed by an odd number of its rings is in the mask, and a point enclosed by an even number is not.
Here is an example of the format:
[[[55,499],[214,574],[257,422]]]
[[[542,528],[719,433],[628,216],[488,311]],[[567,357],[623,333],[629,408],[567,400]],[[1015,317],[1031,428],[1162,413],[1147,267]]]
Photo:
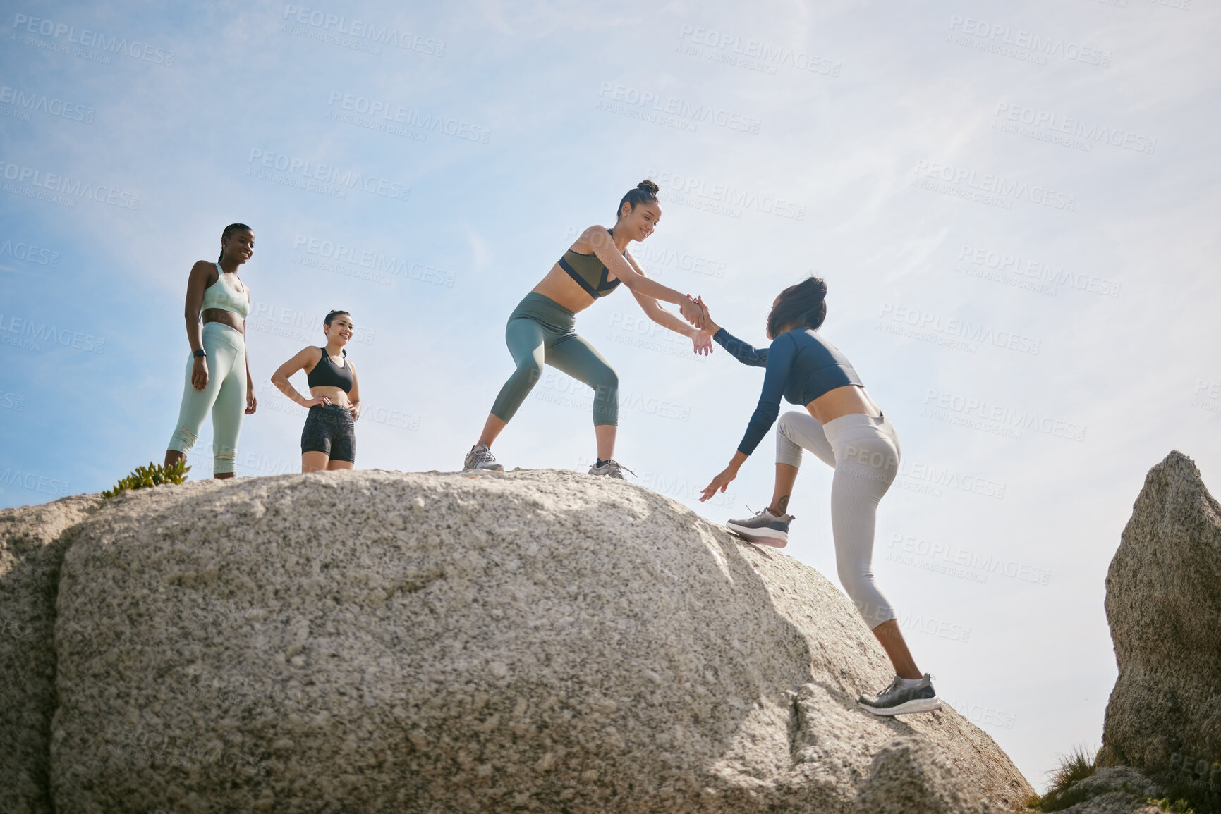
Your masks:
[[[640,265],[628,254],[628,244],[652,234],[661,217],[657,184],[652,181],[640,182],[619,201],[614,227],[607,229],[591,226],[585,229],[542,282],[509,315],[504,340],[516,370],[496,397],[479,442],[466,453],[464,471],[504,471],[490,447],[521,406],[546,364],[593,388],[597,460],[590,467],[590,475],[623,477],[623,467],[613,458],[619,415],[619,377],[573,327],[578,311],[584,311],[623,283],[653,322],[690,337],[695,353],[711,353],[712,338],[700,330],[701,312],[695,300],[646,277]],[[683,320],[662,308],[658,300],[676,304],[683,316],[695,327],[684,325]]]

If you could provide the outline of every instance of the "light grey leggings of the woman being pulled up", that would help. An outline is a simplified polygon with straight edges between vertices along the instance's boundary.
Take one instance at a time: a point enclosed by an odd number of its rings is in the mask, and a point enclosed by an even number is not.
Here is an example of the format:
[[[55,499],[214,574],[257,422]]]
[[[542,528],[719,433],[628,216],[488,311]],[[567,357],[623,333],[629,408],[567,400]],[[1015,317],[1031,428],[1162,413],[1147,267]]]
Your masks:
[[[825,425],[790,410],[775,432],[775,463],[801,466],[808,449],[835,467],[832,481],[832,535],[840,585],[871,629],[896,618],[873,582],[873,531],[878,502],[899,474],[899,434],[885,416],[853,412]]]

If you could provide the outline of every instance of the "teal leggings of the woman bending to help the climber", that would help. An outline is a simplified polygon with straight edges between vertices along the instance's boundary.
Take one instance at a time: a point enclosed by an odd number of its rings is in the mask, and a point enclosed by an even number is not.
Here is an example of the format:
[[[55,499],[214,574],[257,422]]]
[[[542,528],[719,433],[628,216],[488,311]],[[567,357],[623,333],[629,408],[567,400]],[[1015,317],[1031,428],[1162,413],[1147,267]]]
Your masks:
[[[549,297],[525,295],[504,327],[504,342],[518,369],[496,397],[492,415],[508,423],[546,364],[593,388],[595,427],[619,423],[619,376],[602,354],[576,336],[575,325],[576,315]]]

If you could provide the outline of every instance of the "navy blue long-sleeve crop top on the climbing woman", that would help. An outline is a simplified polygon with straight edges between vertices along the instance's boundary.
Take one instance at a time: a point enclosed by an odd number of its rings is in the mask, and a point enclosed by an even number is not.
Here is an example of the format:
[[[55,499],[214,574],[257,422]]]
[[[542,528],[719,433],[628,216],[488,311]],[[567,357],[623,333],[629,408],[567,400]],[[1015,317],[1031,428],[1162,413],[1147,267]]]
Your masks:
[[[752,348],[724,328],[712,337],[737,361],[766,367],[758,406],[746,425],[737,452],[750,455],[780,415],[780,397],[802,406],[845,384],[861,384],[852,364],[832,343],[811,328],[786,331],[769,348]]]

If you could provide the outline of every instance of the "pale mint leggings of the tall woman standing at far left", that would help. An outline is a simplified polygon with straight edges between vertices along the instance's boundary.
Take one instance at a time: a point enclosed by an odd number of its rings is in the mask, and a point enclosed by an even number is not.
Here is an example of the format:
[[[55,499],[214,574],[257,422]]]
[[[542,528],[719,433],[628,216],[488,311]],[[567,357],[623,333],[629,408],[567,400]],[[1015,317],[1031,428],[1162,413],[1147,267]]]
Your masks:
[[[245,339],[242,332],[221,322],[204,326],[204,350],[208,351],[208,386],[197,391],[190,384],[194,356],[187,358],[187,389],[182,393],[178,427],[170,438],[172,449],[188,453],[212,411],[212,475],[233,471],[237,437],[245,412]]]

